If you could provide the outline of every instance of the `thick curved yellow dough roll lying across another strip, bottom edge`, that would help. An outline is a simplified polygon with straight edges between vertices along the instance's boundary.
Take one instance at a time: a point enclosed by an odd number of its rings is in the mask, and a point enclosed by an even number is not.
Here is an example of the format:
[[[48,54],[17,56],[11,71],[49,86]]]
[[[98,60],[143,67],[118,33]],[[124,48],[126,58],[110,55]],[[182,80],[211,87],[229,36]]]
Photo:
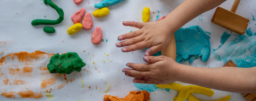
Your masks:
[[[191,93],[198,93],[198,94],[208,95],[210,97],[212,97],[214,95],[214,92],[209,88],[189,85],[189,86],[184,86],[181,89],[178,96],[173,98],[173,101],[184,101],[188,98],[188,95],[191,94]]]

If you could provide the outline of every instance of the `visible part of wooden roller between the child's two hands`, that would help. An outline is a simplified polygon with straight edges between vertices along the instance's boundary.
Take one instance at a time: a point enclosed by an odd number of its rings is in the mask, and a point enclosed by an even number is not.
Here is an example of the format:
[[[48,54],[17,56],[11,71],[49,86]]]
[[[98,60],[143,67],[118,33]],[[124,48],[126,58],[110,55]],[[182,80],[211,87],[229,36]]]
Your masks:
[[[176,41],[175,35],[172,35],[169,44],[161,51],[161,54],[166,57],[172,58],[176,61]]]

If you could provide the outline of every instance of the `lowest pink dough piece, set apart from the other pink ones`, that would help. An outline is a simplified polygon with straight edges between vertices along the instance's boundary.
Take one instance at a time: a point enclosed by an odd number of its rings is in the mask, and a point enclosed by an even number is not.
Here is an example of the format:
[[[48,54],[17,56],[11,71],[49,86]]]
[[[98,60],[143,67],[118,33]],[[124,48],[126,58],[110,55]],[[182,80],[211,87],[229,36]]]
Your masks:
[[[96,27],[95,31],[92,33],[92,43],[100,44],[102,39],[102,32],[100,27]]]

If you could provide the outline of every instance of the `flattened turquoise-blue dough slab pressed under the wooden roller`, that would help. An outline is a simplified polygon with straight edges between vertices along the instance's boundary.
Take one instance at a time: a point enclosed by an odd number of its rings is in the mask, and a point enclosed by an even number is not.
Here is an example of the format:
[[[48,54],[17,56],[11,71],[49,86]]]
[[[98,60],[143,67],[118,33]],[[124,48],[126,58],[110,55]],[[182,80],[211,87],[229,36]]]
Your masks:
[[[209,59],[211,51],[210,36],[205,34],[199,26],[181,28],[174,34],[177,48],[176,62],[189,60],[189,63],[191,63],[198,57],[202,57],[203,62]],[[161,51],[153,56],[160,55]]]

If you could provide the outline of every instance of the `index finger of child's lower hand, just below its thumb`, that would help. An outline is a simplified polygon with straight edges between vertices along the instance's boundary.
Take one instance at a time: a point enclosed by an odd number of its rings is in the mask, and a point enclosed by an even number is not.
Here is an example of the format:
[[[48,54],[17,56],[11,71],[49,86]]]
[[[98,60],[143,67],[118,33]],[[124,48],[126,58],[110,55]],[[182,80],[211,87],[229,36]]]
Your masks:
[[[147,64],[134,64],[134,63],[127,63],[126,66],[127,67],[130,67],[132,69],[135,69],[135,70],[139,70],[139,71],[148,71],[150,70],[149,66],[146,66]]]

